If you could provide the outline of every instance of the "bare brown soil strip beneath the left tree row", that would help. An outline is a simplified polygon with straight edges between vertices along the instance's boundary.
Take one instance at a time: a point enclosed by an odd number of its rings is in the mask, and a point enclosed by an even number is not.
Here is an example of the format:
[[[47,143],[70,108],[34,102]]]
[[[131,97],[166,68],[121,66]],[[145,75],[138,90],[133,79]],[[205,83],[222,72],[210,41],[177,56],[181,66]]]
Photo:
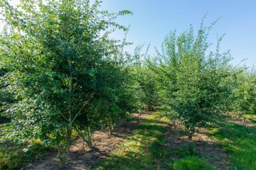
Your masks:
[[[134,114],[134,116],[137,116]],[[96,131],[92,134],[94,149],[90,149],[81,139],[73,142],[70,147],[70,155],[65,170],[71,169],[92,169],[93,165],[106,159],[108,154],[124,142],[124,139],[130,136],[132,131],[140,123],[139,119],[128,121],[122,119],[116,123],[113,135],[108,130]],[[57,152],[47,155],[44,159],[35,161],[35,163],[23,167],[23,170],[55,170],[59,169]]]

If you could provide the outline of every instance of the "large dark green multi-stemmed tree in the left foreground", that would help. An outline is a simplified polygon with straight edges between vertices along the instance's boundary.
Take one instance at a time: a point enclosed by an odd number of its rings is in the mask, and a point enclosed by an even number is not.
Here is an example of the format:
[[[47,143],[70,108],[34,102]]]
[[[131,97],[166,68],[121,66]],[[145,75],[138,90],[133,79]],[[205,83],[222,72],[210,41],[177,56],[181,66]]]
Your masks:
[[[101,66],[120,50],[109,38],[116,17],[130,11],[100,11],[100,1],[1,1],[8,34],[1,34],[1,67],[5,85],[17,103],[5,114],[15,122],[13,135],[40,138],[58,149],[64,167],[77,118],[100,93]],[[88,121],[87,121],[88,122]],[[84,121],[86,123],[86,121]]]

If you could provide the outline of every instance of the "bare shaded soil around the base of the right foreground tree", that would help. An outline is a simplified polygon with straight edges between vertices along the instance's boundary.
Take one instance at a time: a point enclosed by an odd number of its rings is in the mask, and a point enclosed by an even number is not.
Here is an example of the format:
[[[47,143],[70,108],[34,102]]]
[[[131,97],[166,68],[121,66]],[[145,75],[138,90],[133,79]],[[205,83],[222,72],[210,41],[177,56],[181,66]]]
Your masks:
[[[207,129],[201,129],[200,132],[193,134],[192,140],[182,130],[181,124],[176,121],[171,122],[166,132],[166,148],[170,151],[177,150],[177,154],[172,157],[174,161],[180,159],[180,149],[189,149],[190,143],[195,146],[195,154],[202,156],[207,163],[217,167],[217,169],[228,169],[230,163],[228,155],[219,146],[215,139],[209,137],[210,133]]]

